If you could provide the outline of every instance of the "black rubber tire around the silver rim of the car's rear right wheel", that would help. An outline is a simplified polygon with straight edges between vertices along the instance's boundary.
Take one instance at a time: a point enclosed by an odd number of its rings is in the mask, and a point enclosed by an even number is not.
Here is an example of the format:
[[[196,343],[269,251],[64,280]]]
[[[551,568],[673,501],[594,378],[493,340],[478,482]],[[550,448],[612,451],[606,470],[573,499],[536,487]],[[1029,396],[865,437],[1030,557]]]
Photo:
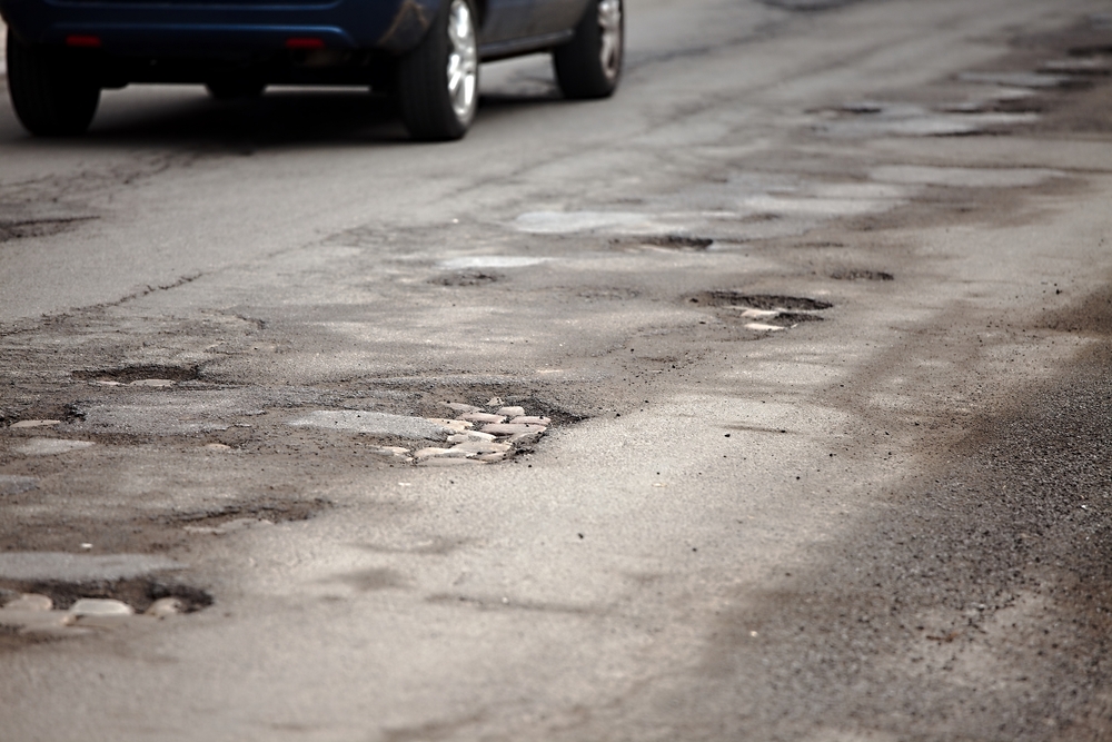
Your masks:
[[[473,0],[464,0],[478,34],[478,13]],[[473,110],[461,121],[448,96],[448,21],[453,0],[444,0],[421,42],[398,60],[398,107],[409,135],[418,141],[460,139],[475,120]],[[476,70],[478,76],[478,70]],[[476,80],[476,87],[478,80]],[[476,108],[478,105],[476,103]]]

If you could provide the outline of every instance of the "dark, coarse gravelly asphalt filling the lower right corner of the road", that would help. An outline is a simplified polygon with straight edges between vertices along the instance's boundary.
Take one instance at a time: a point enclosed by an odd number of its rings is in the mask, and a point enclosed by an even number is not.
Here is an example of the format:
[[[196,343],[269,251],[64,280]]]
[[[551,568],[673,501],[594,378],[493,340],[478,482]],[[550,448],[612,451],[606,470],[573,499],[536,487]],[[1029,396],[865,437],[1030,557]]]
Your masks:
[[[675,693],[622,721],[676,725],[622,739],[1110,739],[1112,290],[1032,329],[1064,328],[1094,342],[813,545],[825,568],[738,591]]]

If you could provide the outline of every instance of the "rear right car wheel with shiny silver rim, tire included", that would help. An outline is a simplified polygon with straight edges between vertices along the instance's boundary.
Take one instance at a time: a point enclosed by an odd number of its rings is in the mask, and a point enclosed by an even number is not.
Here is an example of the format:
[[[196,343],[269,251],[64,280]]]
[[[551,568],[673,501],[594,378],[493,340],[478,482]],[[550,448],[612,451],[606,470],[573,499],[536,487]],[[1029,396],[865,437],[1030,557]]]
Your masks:
[[[446,1],[425,39],[398,61],[398,103],[414,139],[459,139],[475,120],[479,101],[476,18],[469,0]]]

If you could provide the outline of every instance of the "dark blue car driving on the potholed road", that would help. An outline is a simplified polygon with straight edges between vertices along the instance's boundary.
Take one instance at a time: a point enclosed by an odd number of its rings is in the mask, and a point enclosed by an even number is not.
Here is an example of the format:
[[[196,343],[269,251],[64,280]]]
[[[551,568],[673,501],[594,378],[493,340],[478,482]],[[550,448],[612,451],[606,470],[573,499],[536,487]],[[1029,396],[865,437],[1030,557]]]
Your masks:
[[[622,75],[622,0],[0,0],[8,89],[39,136],[83,132],[100,91],[205,85],[218,99],[268,85],[396,95],[415,139],[459,139],[479,62],[550,51],[567,98],[605,98]]]

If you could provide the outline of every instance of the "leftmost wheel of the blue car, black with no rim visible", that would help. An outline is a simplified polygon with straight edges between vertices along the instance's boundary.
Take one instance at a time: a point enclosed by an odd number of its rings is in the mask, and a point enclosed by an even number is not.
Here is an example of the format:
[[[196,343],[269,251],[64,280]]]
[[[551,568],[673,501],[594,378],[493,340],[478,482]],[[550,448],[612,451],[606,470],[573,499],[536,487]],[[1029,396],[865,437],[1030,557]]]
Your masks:
[[[16,116],[40,137],[82,133],[100,102],[100,86],[81,73],[69,49],[24,43],[8,29],[8,93]]]

